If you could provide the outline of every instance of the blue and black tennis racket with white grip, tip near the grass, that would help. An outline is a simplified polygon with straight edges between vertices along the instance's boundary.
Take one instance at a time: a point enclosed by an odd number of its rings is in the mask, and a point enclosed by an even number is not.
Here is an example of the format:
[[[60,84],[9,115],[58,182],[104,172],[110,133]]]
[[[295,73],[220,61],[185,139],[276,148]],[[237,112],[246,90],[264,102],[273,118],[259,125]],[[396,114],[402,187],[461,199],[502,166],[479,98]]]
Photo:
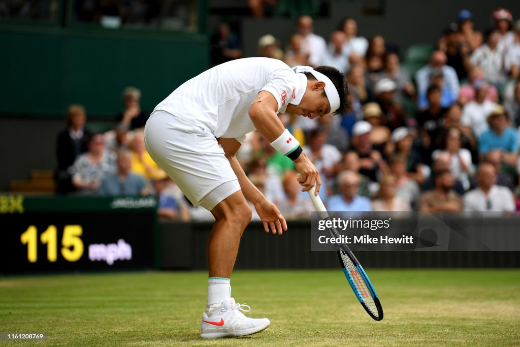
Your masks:
[[[308,191],[310,200],[313,201],[314,207],[322,220],[330,220],[329,213],[323,205],[320,197],[314,194],[314,187]],[[340,237],[340,233],[336,228],[328,229],[332,237]],[[341,267],[347,277],[348,283],[356,294],[361,305],[365,308],[370,317],[375,320],[383,319],[383,307],[379,302],[378,294],[368,279],[365,270],[354,256],[354,253],[345,245],[345,243],[336,244],[337,257],[340,259]]]

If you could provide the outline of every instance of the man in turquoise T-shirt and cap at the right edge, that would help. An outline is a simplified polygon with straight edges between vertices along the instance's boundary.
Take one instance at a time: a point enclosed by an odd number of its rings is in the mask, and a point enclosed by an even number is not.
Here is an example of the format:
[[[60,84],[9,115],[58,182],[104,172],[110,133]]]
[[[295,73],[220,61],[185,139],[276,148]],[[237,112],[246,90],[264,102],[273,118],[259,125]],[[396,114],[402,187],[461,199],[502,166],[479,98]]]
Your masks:
[[[516,131],[509,126],[509,116],[501,105],[497,105],[487,117],[489,129],[479,138],[478,152],[486,155],[491,149],[500,149],[503,161],[514,168],[518,152]]]

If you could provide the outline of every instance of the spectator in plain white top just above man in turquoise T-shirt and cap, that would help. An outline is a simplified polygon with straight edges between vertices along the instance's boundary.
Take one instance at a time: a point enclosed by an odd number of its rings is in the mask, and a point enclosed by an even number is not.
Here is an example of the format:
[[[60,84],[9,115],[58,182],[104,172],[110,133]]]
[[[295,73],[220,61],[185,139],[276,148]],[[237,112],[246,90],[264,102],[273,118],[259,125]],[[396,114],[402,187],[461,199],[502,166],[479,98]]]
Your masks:
[[[487,130],[487,116],[497,106],[495,102],[486,99],[489,84],[477,81],[475,86],[475,100],[468,102],[462,109],[461,123],[471,127],[476,137]]]

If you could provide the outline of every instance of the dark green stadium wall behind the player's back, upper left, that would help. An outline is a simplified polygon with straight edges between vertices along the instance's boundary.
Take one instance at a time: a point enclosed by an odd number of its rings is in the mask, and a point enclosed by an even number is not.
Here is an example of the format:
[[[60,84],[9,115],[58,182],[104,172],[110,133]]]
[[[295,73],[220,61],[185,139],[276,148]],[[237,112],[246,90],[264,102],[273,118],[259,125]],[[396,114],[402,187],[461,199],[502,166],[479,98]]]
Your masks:
[[[152,110],[209,67],[205,35],[166,31],[0,28],[0,115],[63,117],[71,103],[89,119],[113,119],[121,92],[142,91]]]

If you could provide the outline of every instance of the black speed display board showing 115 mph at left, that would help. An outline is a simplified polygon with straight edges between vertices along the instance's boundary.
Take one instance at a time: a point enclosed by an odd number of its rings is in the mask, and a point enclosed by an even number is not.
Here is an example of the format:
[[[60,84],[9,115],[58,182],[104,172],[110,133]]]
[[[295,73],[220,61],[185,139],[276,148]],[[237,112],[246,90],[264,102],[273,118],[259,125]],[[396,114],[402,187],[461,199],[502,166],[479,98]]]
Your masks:
[[[155,206],[154,198],[0,196],[0,273],[152,268]]]

